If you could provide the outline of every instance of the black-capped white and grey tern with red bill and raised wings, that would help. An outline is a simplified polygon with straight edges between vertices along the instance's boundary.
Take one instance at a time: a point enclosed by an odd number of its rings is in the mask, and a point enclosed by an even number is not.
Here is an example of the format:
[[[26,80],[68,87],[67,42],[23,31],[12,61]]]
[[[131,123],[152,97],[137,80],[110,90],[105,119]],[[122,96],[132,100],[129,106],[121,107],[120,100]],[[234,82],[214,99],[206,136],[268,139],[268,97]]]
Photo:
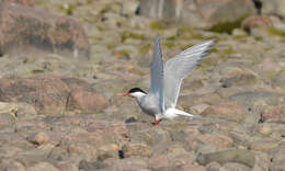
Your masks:
[[[149,92],[140,88],[133,88],[123,96],[135,98],[141,111],[155,117],[152,123],[158,126],[164,118],[194,115],[175,109],[181,83],[184,78],[207,56],[216,44],[216,39],[209,39],[194,45],[175,55],[168,61],[163,61],[160,48],[160,36],[155,41],[155,50],[151,62],[151,83]]]

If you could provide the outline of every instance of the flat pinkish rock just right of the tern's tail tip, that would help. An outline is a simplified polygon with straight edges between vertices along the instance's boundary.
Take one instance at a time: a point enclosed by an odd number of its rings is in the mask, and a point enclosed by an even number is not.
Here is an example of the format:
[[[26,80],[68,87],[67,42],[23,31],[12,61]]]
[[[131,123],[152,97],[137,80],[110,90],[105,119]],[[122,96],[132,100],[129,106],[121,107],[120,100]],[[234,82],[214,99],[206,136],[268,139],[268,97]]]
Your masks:
[[[221,102],[208,106],[201,115],[207,117],[218,117],[228,121],[241,122],[247,112],[237,102]]]

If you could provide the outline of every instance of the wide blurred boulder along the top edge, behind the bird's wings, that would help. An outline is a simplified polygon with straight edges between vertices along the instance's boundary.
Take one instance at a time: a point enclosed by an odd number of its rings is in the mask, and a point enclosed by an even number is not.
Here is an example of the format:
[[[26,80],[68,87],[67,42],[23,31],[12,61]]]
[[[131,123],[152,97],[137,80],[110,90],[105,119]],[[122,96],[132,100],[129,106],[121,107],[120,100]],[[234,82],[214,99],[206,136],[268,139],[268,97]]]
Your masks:
[[[140,0],[139,12],[155,19],[183,21],[193,27],[218,29],[239,24],[256,10],[251,0]]]

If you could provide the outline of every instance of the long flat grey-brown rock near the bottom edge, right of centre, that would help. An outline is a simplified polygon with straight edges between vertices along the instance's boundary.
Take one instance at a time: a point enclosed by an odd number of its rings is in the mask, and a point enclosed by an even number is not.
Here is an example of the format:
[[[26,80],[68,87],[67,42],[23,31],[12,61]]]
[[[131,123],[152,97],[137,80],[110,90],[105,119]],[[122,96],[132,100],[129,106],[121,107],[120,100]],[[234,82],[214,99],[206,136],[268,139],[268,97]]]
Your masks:
[[[197,162],[200,164],[206,166],[213,161],[224,164],[227,162],[238,162],[250,168],[253,168],[255,163],[255,157],[253,152],[241,149],[230,149],[219,152],[200,155],[197,157]]]

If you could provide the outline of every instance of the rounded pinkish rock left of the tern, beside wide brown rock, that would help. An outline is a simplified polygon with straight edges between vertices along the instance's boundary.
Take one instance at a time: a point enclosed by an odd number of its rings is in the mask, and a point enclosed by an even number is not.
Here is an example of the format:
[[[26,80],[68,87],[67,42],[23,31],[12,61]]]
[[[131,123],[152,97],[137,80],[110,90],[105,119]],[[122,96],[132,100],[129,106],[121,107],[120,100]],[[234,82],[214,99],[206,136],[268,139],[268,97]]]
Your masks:
[[[100,111],[107,106],[106,98],[88,91],[72,91],[68,102],[68,110],[81,110],[84,112]]]

